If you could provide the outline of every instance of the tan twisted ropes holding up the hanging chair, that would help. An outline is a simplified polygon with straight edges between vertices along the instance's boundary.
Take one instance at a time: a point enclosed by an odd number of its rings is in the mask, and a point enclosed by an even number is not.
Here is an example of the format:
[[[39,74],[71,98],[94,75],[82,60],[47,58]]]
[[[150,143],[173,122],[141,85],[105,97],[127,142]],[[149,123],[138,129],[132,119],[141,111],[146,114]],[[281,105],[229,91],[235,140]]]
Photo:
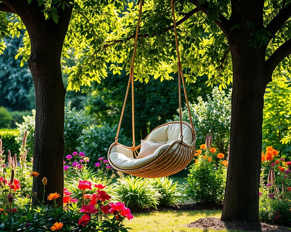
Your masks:
[[[180,53],[179,53],[179,43],[178,43],[178,36],[177,36],[177,27],[176,27],[176,18],[175,18],[175,8],[174,8],[174,0],[171,0],[171,7],[172,7],[172,17],[173,17],[173,22],[174,22],[174,31],[175,31],[175,41],[176,41],[176,51],[177,51],[177,58],[178,58],[178,88],[179,88],[179,118],[180,118],[180,134],[181,134],[181,140],[183,140],[183,135],[182,135],[182,101],[181,101],[181,79],[182,79],[182,85],[183,85],[183,90],[185,94],[185,99],[186,99],[186,105],[187,105],[187,110],[189,114],[189,120],[190,120],[190,125],[192,127],[192,131],[194,131],[193,127],[193,122],[192,122],[192,117],[191,117],[191,112],[189,108],[189,102],[187,98],[187,92],[186,92],[186,87],[185,87],[185,81],[184,81],[184,76],[182,72],[182,64],[180,60]],[[131,60],[131,66],[130,66],[130,75],[129,75],[129,80],[127,84],[127,89],[125,93],[125,98],[122,106],[122,111],[121,111],[121,116],[119,119],[119,124],[116,132],[116,137],[115,137],[115,144],[118,143],[118,135],[121,127],[121,122],[125,110],[125,105],[126,105],[126,100],[128,97],[129,93],[129,87],[131,84],[131,93],[132,93],[132,148],[135,150],[135,131],[134,131],[134,71],[133,71],[133,65],[134,65],[134,59],[135,59],[135,53],[136,53],[136,47],[137,47],[137,40],[138,40],[138,34],[139,34],[139,25],[140,25],[140,20],[141,20],[141,15],[142,15],[142,0],[139,2],[139,18],[137,21],[137,26],[136,26],[136,34],[135,34],[135,41],[134,41],[134,48],[133,48],[133,55],[132,55],[132,60]],[[181,78],[182,77],[182,78]]]

